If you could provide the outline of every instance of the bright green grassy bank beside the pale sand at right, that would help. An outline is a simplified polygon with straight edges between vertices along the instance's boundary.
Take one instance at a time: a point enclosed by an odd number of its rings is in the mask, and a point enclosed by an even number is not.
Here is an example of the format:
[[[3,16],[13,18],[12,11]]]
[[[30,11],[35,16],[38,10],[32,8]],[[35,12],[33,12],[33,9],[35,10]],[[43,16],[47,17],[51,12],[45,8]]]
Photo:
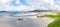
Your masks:
[[[60,12],[56,13],[56,15],[46,15],[46,16],[55,19],[48,25],[48,27],[60,27]]]

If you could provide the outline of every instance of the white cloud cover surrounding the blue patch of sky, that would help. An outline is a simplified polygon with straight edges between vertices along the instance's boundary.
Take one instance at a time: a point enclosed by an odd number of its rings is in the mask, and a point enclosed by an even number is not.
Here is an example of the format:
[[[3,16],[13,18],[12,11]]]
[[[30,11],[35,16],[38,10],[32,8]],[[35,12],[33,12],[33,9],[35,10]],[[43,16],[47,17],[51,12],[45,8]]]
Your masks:
[[[60,10],[60,6],[54,4],[54,0],[26,0],[30,6],[20,5],[18,7],[8,6],[6,3],[10,2],[11,0],[1,0],[4,4],[4,10],[18,10],[18,11],[30,11],[34,9],[42,9],[42,10]],[[19,0],[16,0],[16,3],[19,4]]]

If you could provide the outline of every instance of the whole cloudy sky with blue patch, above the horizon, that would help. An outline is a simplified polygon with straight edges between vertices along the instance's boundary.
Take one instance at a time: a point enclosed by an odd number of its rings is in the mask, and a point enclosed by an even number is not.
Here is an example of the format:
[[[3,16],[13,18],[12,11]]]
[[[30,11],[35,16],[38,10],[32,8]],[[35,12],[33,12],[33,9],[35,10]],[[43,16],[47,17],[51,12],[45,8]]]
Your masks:
[[[0,11],[60,10],[60,0],[0,0]]]

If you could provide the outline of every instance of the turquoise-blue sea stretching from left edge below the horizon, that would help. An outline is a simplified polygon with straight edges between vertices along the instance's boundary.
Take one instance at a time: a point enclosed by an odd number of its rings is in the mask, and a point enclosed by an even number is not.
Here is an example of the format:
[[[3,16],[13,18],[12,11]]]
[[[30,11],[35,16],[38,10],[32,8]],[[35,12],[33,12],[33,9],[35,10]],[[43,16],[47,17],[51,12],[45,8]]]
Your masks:
[[[19,11],[6,11],[6,12],[1,12],[0,11],[0,18],[2,18],[2,17],[8,17],[8,16],[11,17],[11,15],[27,14],[27,13],[29,13],[29,12],[19,12]]]

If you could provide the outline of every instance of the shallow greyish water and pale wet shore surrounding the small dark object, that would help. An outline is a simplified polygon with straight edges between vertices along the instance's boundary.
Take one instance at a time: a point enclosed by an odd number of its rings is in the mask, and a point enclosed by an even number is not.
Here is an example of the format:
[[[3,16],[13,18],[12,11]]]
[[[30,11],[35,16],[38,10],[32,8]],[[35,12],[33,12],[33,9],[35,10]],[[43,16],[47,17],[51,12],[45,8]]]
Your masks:
[[[1,18],[0,27],[47,27],[52,21],[53,19],[49,18],[6,17]]]

